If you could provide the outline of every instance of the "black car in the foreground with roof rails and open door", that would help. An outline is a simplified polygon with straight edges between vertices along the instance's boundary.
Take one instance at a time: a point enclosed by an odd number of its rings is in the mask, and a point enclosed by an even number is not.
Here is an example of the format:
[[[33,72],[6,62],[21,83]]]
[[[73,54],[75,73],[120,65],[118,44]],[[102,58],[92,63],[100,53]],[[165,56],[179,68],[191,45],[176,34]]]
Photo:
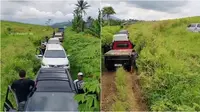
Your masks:
[[[10,86],[7,96],[9,96],[9,91],[12,91]],[[14,94],[14,92],[11,93]],[[78,111],[78,102],[74,100],[75,93],[73,80],[68,70],[41,68],[37,73],[36,88],[30,93],[24,111]],[[13,102],[13,99],[9,100],[7,96],[4,110],[16,110],[17,100]],[[11,101],[16,104],[12,104]]]

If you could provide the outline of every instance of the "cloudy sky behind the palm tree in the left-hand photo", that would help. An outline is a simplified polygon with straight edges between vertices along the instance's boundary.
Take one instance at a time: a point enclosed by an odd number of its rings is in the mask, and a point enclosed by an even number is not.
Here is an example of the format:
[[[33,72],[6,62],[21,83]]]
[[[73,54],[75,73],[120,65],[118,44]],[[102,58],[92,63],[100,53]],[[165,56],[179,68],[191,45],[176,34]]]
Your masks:
[[[54,23],[69,21],[73,19],[75,3],[76,0],[4,0],[1,2],[1,19],[36,24],[44,24],[49,18]],[[97,18],[100,1],[89,0],[88,3],[91,7],[86,10],[86,17]]]

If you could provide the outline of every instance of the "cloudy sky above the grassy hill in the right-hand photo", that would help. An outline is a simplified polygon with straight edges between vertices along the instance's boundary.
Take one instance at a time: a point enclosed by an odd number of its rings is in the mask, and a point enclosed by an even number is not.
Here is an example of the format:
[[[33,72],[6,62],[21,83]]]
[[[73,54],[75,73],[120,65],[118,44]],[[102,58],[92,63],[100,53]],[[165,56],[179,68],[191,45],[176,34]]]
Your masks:
[[[199,16],[200,1],[104,1],[120,19],[163,20]]]

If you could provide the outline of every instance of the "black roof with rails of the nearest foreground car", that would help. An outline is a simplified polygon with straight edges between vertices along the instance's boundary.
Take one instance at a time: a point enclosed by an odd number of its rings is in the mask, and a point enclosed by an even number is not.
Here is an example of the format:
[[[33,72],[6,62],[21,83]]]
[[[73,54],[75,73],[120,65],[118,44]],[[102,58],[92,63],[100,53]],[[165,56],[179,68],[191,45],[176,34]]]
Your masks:
[[[40,68],[36,82],[36,91],[72,92],[75,90],[70,73],[64,68]]]

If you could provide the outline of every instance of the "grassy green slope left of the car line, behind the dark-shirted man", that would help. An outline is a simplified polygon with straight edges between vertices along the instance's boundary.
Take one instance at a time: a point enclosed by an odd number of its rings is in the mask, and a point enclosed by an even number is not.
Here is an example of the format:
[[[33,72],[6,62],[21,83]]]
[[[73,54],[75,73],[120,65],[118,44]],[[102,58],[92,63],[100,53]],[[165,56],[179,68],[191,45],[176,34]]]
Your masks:
[[[36,46],[49,35],[45,26],[1,21],[1,106],[8,85],[18,79],[18,71],[24,69],[33,79],[40,67],[35,58]]]

